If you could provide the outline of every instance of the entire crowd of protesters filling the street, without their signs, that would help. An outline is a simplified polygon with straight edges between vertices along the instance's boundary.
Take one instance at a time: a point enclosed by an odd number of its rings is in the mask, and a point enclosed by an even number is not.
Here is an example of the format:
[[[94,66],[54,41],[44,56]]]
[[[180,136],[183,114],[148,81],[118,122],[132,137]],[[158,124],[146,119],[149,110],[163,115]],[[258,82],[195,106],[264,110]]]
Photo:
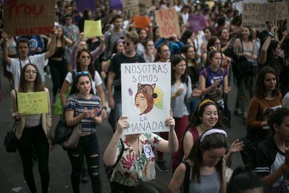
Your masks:
[[[81,128],[77,147],[64,148],[75,193],[80,192],[80,181],[88,180],[86,172],[92,192],[105,192],[102,163],[112,167],[111,192],[288,192],[286,20],[267,21],[266,29],[258,31],[242,25],[242,15],[231,1],[161,0],[149,3],[145,13],[151,22],[139,29],[133,18],[124,20],[121,9],[110,9],[112,3],[99,0],[96,10],[79,12],[75,1],[57,1],[51,34],[10,37],[1,29],[10,113],[17,122],[17,150],[29,190],[36,192],[35,155],[42,192],[48,192],[52,113],[64,113],[69,127]],[[161,8],[175,8],[181,34],[161,37],[154,17]],[[192,31],[189,15],[205,16],[207,27]],[[108,16],[103,36],[84,37],[84,20]],[[165,122],[170,131],[124,135],[130,124],[121,114],[121,64],[143,62],[170,62],[171,113]],[[45,78],[51,78],[53,87],[48,113],[19,112],[17,92],[50,96]],[[234,107],[228,106],[232,87],[237,88]],[[148,91],[138,92],[144,96]],[[225,129],[232,127],[231,114],[242,117],[247,134],[229,145]],[[96,130],[104,120],[114,134],[101,155]],[[226,167],[237,152],[244,166],[227,182]],[[170,154],[170,163],[164,153]],[[156,183],[155,169],[172,171],[167,185]]]

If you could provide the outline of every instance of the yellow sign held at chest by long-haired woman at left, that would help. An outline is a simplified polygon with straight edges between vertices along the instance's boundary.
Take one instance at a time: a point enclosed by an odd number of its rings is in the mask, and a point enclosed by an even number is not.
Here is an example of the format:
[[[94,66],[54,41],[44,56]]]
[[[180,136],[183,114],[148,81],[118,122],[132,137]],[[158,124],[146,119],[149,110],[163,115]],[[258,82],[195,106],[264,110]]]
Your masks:
[[[47,92],[17,92],[18,112],[25,115],[48,113]]]

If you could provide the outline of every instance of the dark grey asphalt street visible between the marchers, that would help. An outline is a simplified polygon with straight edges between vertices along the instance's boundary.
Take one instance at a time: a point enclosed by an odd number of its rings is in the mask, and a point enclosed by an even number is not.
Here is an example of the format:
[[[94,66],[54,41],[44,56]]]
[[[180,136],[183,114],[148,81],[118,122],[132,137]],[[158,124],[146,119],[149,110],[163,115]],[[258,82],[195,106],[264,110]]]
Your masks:
[[[0,142],[2,143],[7,129],[10,129],[13,124],[13,120],[10,117],[10,108],[9,108],[9,94],[10,87],[5,78],[3,78],[2,67],[0,66],[0,78],[1,78],[1,93],[2,101],[0,102]],[[47,78],[47,87],[51,90],[52,83]],[[235,102],[236,91],[233,88],[232,93],[230,94],[229,106],[233,110]],[[55,124],[55,121],[54,121]],[[245,135],[246,129],[242,123],[242,119],[232,115],[232,128],[226,129],[228,131],[228,136],[232,142],[235,138],[239,138]],[[112,129],[108,122],[104,122],[101,127],[98,128],[98,141],[101,148],[101,155],[108,145],[110,138],[112,137]],[[13,187],[22,187],[23,193],[29,192],[29,188],[24,182],[23,173],[22,173],[22,164],[20,161],[20,155],[17,153],[7,153],[3,145],[0,145],[0,192],[8,193],[11,192]],[[166,156],[167,161],[169,161],[168,155]],[[102,159],[101,159],[102,160]],[[236,166],[242,164],[242,159],[239,154],[234,155],[231,168],[234,169]],[[38,192],[40,192],[40,179],[38,175],[38,165],[37,163],[34,166],[34,174],[36,179],[36,185]],[[66,152],[57,145],[50,153],[50,192],[72,192],[71,182],[71,164],[68,160],[68,155]],[[171,175],[170,173],[158,173],[156,174],[157,178],[163,183],[168,183]],[[105,176],[103,166],[101,165],[101,180],[103,185],[103,192],[110,192],[110,187],[108,184],[108,179]],[[91,192],[90,183],[81,185],[81,192]]]

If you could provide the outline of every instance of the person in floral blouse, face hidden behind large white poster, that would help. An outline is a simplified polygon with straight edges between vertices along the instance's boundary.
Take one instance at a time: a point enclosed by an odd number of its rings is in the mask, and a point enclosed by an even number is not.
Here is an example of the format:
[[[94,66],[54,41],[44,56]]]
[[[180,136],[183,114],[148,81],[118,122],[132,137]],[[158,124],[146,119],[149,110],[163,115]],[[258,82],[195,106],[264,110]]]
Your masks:
[[[122,131],[129,124],[127,117],[119,118],[117,130],[103,155],[106,166],[115,165],[110,178],[111,192],[131,192],[138,184],[156,178],[154,149],[172,153],[178,148],[175,120],[168,117],[165,125],[170,127],[168,141],[152,133],[124,136]]]

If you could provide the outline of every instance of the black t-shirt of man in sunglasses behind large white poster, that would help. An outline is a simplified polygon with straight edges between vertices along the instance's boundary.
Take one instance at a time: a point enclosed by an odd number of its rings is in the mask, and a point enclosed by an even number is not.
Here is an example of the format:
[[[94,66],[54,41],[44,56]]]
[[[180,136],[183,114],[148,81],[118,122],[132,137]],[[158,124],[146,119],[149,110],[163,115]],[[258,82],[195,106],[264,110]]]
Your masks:
[[[141,55],[135,54],[134,57],[126,57],[122,52],[112,57],[112,62],[108,68],[109,72],[115,74],[114,77],[114,90],[121,91],[121,64],[123,63],[143,63],[144,58]]]

